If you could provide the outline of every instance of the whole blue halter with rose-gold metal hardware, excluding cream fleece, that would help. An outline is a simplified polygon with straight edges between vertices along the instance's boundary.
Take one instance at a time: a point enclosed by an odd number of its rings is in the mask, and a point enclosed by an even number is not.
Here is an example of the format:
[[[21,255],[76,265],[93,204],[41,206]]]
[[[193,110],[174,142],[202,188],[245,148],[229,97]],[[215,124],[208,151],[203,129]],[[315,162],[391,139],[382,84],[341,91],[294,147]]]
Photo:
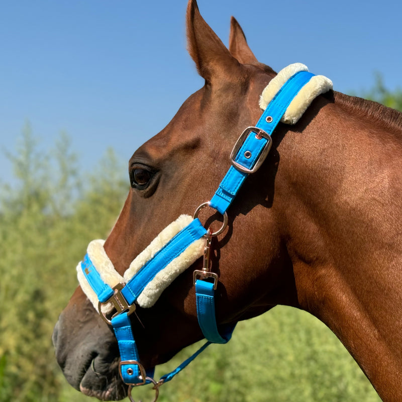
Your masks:
[[[233,202],[246,177],[250,173],[254,173],[265,160],[271,148],[272,132],[294,96],[313,76],[314,74],[308,71],[299,71],[283,84],[267,106],[256,126],[247,128],[238,139],[231,154],[232,166],[229,168],[211,201],[200,206],[194,214],[194,220],[157,252],[126,285],[118,285],[112,288],[103,282],[88,255],[85,255],[81,263],[82,272],[98,297],[99,313],[113,326],[115,331],[121,357],[120,374],[123,381],[129,385],[129,397],[131,400],[132,386],[152,382],[156,389],[157,397],[159,386],[164,382],[170,381],[208,345],[211,343],[227,343],[230,340],[235,325],[218,329],[215,318],[214,294],[218,276],[211,272],[209,268],[211,238],[217,236],[225,229],[227,224],[227,209]],[[197,218],[200,209],[207,205],[216,209],[225,218],[224,226],[216,233],[207,231]],[[163,375],[156,382],[153,379],[154,368],[146,371],[139,362],[139,354],[132,333],[129,315],[135,310],[136,299],[147,283],[190,244],[202,237],[206,238],[204,267],[202,270],[194,271],[194,283],[198,324],[208,342],[175,370]],[[110,303],[113,304],[116,313],[109,321],[102,313],[100,306]]]

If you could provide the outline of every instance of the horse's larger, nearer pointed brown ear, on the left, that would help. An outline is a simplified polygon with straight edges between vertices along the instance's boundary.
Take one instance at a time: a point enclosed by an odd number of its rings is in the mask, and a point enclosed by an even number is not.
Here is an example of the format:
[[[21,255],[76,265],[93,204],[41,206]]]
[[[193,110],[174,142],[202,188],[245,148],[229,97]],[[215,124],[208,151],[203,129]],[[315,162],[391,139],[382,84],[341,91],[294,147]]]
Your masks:
[[[199,14],[196,0],[187,6],[187,47],[200,76],[211,82],[213,77],[231,74],[239,62]]]

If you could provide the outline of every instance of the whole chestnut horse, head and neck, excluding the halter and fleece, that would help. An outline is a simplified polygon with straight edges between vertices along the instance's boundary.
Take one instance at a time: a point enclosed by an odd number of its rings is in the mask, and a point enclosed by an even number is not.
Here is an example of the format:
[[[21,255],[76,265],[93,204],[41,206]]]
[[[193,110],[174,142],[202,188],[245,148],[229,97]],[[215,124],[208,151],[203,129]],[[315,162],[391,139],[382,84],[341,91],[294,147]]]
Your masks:
[[[129,161],[131,188],[104,244],[121,275],[163,228],[211,198],[276,76],[256,59],[233,17],[229,48],[195,0],[186,29],[205,85]],[[401,195],[399,112],[329,90],[296,124],[279,123],[268,156],[240,188],[214,243],[218,325],[276,305],[305,310],[337,335],[383,400],[402,400]],[[203,219],[216,225],[222,219],[210,210]],[[154,306],[130,316],[145,368],[204,338],[192,278],[202,264],[196,260]],[[114,333],[81,287],[60,314],[53,343],[76,389],[102,400],[127,395]]]

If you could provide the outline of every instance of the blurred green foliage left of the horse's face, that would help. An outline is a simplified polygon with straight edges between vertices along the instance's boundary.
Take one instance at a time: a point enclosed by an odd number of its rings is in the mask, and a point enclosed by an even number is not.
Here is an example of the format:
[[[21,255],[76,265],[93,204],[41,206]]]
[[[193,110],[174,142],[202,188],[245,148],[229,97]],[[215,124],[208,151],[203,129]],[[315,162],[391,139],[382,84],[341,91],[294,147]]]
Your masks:
[[[86,244],[106,237],[128,185],[112,151],[84,185],[68,138],[39,151],[29,125],[8,157],[17,183],[0,194],[0,401],[60,400],[53,326],[77,285]]]

